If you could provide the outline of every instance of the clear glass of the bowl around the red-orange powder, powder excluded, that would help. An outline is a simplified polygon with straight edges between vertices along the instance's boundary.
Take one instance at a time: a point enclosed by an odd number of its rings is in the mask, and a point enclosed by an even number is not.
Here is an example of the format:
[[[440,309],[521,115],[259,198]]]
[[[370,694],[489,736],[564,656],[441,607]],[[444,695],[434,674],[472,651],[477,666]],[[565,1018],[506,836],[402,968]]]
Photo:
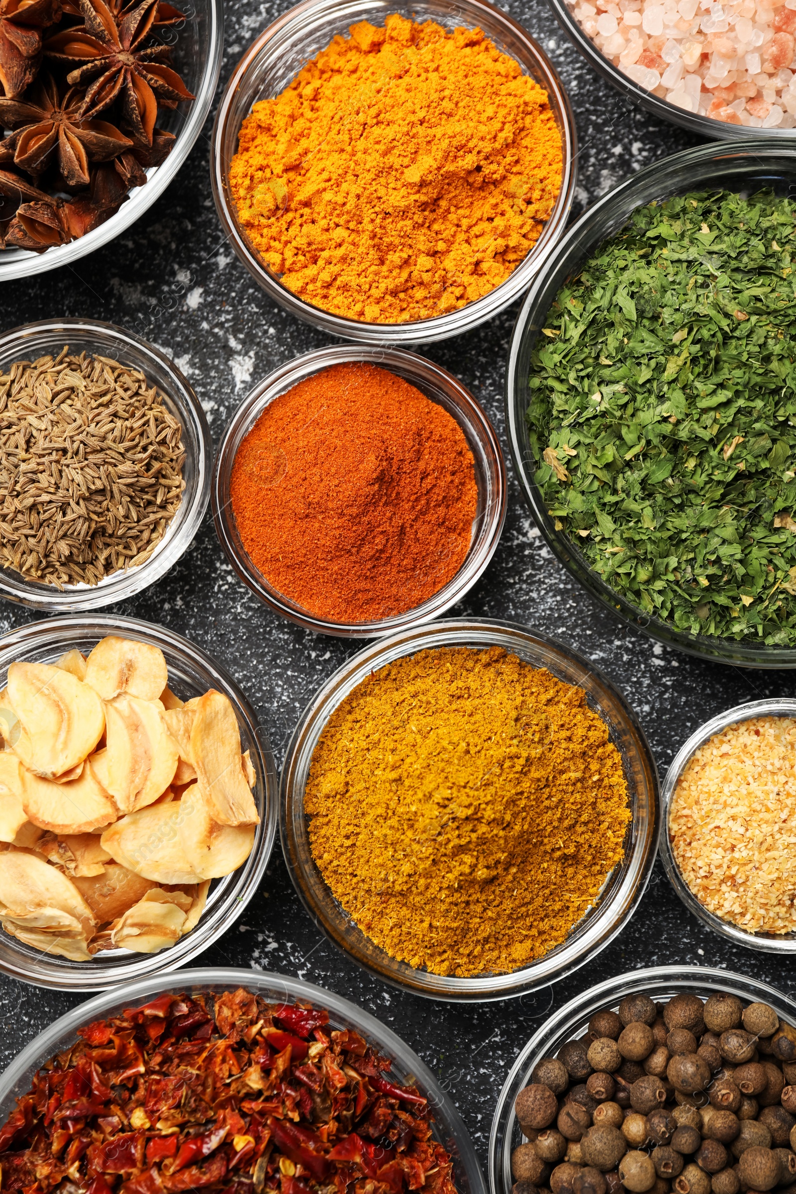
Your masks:
[[[303,607],[269,584],[252,564],[241,543],[229,498],[235,455],[241,441],[252,430],[265,407],[279,394],[284,394],[285,390],[291,389],[306,377],[310,377],[329,365],[352,361],[364,361],[389,369],[390,373],[411,382],[456,419],[473,453],[475,480],[479,488],[470,547],[456,576],[422,605],[407,610],[406,614],[397,614],[377,622],[331,622],[314,617]],[[464,389],[462,383],[440,365],[400,349],[338,345],[307,352],[304,356],[280,365],[246,395],[218,445],[210,500],[216,531],[227,559],[243,584],[248,585],[270,609],[290,618],[291,622],[297,622],[298,626],[320,634],[334,634],[347,639],[372,639],[439,617],[457,601],[461,601],[481,577],[494,555],[506,518],[506,466],[500,442],[489,419],[469,390]]]

